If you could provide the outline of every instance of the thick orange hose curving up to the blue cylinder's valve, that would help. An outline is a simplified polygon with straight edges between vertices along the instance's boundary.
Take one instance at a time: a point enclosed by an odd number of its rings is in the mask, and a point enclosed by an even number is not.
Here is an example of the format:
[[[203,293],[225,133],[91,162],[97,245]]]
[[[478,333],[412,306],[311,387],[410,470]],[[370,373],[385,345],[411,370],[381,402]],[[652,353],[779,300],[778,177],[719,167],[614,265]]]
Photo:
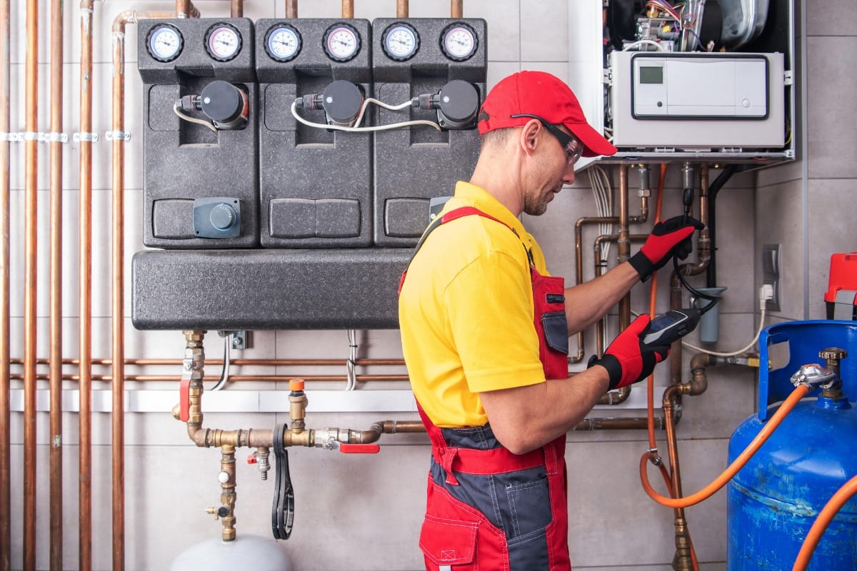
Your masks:
[[[747,445],[746,449],[741,452],[741,454],[735,458],[731,464],[729,464],[722,474],[697,493],[692,494],[691,496],[679,498],[665,497],[658,494],[651,487],[649,477],[646,474],[646,461],[648,461],[650,457],[648,452],[640,458],[640,479],[643,481],[643,489],[647,494],[649,494],[651,499],[668,508],[687,508],[688,506],[700,503],[704,499],[713,496],[716,491],[726,485],[727,482],[746,465],[747,461],[752,458],[752,455],[756,454],[756,451],[761,448],[765,441],[768,440],[770,435],[776,430],[777,426],[782,423],[782,420],[786,418],[794,406],[800,402],[800,399],[806,396],[807,392],[809,392],[809,387],[804,384],[800,384],[796,389],[794,389],[792,394],[789,395],[782,403],[782,406],[777,409],[776,413],[772,417],[770,417],[770,420],[766,425],[764,425],[764,428],[759,431],[756,437],[752,439],[752,442]]]

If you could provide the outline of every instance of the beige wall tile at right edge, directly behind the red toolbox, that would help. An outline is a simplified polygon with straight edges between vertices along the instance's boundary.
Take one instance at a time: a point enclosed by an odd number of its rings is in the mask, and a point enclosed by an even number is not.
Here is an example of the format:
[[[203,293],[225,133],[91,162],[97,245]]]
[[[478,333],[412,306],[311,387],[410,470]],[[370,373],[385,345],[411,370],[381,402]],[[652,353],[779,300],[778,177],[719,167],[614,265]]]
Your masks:
[[[851,198],[854,181],[809,181],[809,318],[825,319],[824,294],[830,283],[830,255],[854,252],[851,229],[857,205]],[[854,286],[854,284],[851,284]]]

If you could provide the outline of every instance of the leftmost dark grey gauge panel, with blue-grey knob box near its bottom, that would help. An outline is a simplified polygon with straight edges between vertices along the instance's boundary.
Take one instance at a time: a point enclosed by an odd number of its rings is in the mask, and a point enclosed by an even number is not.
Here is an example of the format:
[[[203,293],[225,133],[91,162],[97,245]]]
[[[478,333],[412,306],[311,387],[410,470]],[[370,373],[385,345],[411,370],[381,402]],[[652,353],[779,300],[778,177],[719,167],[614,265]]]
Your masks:
[[[235,27],[241,47],[227,62],[206,50],[207,33],[220,23]],[[150,33],[168,24],[182,36],[182,48],[170,62],[153,57]],[[257,87],[254,28],[246,18],[185,18],[141,20],[138,69],[143,80],[143,242],[149,247],[253,247],[259,242]],[[213,132],[179,119],[173,104],[185,95],[200,94],[213,80],[225,80],[249,96],[249,122],[241,129]],[[191,116],[205,118],[201,113]],[[196,237],[191,204],[194,199],[234,197],[241,202],[237,237]],[[188,216],[188,212],[191,215]]]

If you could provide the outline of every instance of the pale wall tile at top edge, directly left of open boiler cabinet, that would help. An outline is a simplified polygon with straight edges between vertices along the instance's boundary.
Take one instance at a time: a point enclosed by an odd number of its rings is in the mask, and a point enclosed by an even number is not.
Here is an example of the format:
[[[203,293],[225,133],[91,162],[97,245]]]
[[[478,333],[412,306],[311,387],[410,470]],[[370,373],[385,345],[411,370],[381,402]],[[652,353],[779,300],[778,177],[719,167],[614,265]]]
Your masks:
[[[568,61],[568,3],[527,3],[521,10],[521,61]]]

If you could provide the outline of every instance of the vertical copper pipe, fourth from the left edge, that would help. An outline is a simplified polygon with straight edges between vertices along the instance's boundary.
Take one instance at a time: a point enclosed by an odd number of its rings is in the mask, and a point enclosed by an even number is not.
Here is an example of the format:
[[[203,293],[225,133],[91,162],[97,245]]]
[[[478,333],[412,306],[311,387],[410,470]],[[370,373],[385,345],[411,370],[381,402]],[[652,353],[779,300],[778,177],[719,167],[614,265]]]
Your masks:
[[[78,343],[80,363],[80,413],[78,425],[78,568],[93,568],[93,1],[81,0],[81,199],[79,322]]]

